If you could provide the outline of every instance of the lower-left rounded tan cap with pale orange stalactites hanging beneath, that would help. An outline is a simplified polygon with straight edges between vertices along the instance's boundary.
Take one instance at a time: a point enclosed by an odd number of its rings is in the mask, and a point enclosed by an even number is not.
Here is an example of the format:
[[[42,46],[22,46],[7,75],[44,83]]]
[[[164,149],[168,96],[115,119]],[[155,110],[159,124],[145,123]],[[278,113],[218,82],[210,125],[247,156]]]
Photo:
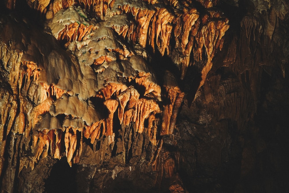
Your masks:
[[[91,102],[77,96],[64,93],[56,100],[53,98],[48,96],[32,109],[33,161],[39,161],[41,155],[47,157],[48,150],[51,156],[60,159],[65,150],[71,166],[79,162],[84,128],[100,122],[101,116]]]

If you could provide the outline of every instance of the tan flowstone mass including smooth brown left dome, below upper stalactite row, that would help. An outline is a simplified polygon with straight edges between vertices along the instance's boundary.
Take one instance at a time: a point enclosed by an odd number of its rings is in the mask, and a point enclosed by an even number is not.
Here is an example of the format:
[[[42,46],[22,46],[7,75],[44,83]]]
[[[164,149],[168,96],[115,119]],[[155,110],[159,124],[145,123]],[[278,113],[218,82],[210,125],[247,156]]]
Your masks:
[[[58,24],[69,28],[69,25],[73,24],[73,18],[69,20],[70,24],[65,24],[66,21],[63,20],[59,23],[58,20],[73,13],[77,21],[83,23],[85,21],[80,19],[83,16],[79,12],[84,13],[74,7],[59,11],[48,24],[55,38],[64,43],[70,42],[67,45],[72,52],[70,59],[65,57],[65,53],[51,52],[49,47],[39,47],[37,39],[35,44],[29,45],[27,51],[23,50],[21,64],[25,70],[20,74],[27,78],[19,80],[33,83],[37,97],[34,97],[36,101],[33,101],[33,108],[29,111],[29,128],[25,131],[27,137],[30,131],[33,131],[34,157],[23,159],[21,168],[28,165],[34,168],[34,164],[49,153],[52,157],[61,159],[63,149],[66,151],[67,162],[72,166],[72,163],[79,161],[81,155],[82,135],[90,138],[92,144],[102,136],[108,138],[108,144],[114,143],[116,136],[113,120],[116,111],[120,125],[129,126],[135,123],[135,131],[145,131],[151,143],[156,144],[160,122],[156,116],[162,111],[158,104],[161,100],[161,87],[154,73],[142,55],[138,56],[129,51],[131,48],[115,36],[112,28],[105,27],[107,22],[94,24],[95,27],[87,31],[81,39],[70,36],[59,38],[58,34],[62,31],[57,28]],[[68,28],[65,28],[66,32]],[[47,52],[48,57],[37,55],[41,52]],[[143,51],[140,54],[143,54]],[[65,73],[54,71],[57,68],[56,60],[62,64]],[[95,84],[91,84],[93,81]],[[18,84],[22,85],[22,82]],[[29,92],[36,93],[32,90]],[[124,96],[126,97],[122,100]],[[89,97],[103,101],[108,114],[100,115],[98,108],[87,100]],[[17,120],[23,119],[23,113],[23,110],[19,112]],[[148,122],[147,125],[145,121]],[[19,123],[24,122],[25,120],[22,120]],[[22,126],[19,125],[21,133]]]

